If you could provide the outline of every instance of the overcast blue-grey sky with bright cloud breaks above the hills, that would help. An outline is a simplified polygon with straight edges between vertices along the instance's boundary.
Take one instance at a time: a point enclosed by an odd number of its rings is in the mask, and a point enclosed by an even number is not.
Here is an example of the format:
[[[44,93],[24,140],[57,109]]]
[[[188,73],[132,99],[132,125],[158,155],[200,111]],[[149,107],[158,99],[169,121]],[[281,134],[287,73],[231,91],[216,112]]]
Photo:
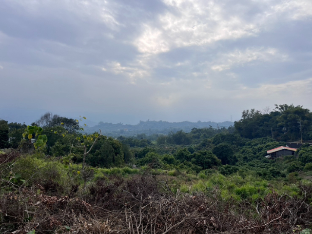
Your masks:
[[[1,0],[0,118],[312,110],[312,0]]]

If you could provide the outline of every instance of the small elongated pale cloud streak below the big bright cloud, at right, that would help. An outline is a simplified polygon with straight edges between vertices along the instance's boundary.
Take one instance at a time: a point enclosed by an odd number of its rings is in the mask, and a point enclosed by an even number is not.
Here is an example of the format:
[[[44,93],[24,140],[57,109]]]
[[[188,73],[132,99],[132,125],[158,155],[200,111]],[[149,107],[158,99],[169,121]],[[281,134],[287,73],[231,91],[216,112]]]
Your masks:
[[[260,62],[280,62],[288,59],[286,54],[280,53],[274,48],[247,48],[244,51],[234,50],[226,54],[219,55],[218,62],[211,67],[215,71],[228,70],[234,66],[243,66],[254,61]]]

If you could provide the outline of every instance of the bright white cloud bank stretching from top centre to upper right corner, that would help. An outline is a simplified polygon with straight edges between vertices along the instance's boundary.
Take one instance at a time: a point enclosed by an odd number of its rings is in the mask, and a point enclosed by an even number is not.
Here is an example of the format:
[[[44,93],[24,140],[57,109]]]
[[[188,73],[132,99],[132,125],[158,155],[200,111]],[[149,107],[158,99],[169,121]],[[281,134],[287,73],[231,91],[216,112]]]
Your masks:
[[[158,54],[179,47],[257,37],[285,17],[302,20],[312,16],[311,0],[254,0],[244,7],[239,2],[215,0],[163,2],[168,10],[156,21],[144,22],[141,35],[134,41],[141,53]],[[258,12],[250,13],[250,7]]]

